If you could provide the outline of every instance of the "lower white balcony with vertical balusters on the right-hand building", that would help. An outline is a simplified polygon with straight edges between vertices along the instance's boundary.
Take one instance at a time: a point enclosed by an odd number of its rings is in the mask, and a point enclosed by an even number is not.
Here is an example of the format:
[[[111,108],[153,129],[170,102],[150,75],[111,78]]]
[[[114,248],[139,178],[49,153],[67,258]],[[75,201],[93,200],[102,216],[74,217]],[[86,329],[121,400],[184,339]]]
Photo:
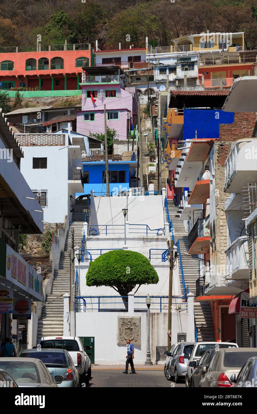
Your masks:
[[[249,279],[248,236],[238,237],[225,252],[226,279]]]

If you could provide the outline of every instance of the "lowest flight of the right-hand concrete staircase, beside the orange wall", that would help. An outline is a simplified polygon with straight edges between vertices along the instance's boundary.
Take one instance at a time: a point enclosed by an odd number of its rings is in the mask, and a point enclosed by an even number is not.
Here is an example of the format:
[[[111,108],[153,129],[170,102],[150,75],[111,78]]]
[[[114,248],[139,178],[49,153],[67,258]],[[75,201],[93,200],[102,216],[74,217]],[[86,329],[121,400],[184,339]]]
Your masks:
[[[212,318],[209,302],[195,302],[193,304],[196,320],[198,342],[214,341]]]

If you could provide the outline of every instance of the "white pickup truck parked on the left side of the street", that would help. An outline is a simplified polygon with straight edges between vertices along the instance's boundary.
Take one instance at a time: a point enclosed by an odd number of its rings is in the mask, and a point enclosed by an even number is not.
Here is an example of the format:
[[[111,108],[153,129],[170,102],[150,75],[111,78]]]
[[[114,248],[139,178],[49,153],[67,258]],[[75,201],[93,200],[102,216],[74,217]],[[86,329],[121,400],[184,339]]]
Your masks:
[[[90,347],[88,346],[84,349],[79,337],[42,337],[39,344],[41,348],[66,349],[78,370],[80,383],[89,383],[91,378],[91,362],[86,351],[90,351]]]

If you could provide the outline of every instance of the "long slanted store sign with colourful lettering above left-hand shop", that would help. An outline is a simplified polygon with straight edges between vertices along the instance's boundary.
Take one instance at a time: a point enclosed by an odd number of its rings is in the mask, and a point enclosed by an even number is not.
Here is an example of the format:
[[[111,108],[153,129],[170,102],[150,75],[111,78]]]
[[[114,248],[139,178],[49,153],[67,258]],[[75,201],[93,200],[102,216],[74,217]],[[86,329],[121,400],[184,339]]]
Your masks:
[[[24,293],[31,295],[33,300],[42,301],[43,277],[26,260],[7,244],[5,245],[5,268],[2,268],[1,276],[21,288]]]

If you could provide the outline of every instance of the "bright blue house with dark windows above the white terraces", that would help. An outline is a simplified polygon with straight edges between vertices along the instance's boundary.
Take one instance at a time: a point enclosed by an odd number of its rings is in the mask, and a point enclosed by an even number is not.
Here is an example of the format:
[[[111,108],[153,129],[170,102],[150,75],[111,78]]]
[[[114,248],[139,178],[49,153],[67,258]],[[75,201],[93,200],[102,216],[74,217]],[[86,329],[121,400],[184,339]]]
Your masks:
[[[131,160],[111,161],[109,160],[109,184],[110,192],[115,195],[119,191],[129,190],[135,186],[137,173],[137,160],[134,152]],[[96,195],[106,194],[105,161],[84,161],[84,194],[90,194],[94,190]],[[79,196],[81,194],[76,194]]]

